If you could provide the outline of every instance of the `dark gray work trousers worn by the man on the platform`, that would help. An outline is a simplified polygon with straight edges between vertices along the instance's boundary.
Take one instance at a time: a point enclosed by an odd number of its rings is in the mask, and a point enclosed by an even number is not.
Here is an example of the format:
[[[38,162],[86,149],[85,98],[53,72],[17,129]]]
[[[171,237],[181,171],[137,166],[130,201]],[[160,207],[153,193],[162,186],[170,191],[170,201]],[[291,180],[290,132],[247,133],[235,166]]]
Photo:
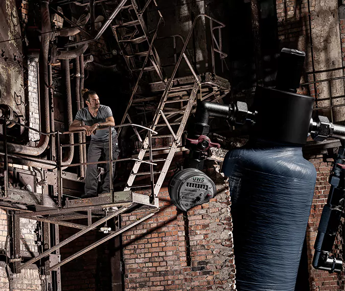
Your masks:
[[[112,138],[112,158],[114,160],[119,157],[119,147],[118,147],[118,138],[114,136]],[[94,141],[91,140],[90,146],[87,152],[87,162],[98,162],[101,155],[104,155],[104,160],[109,160],[109,141]],[[101,193],[109,193],[110,191],[110,172],[109,172],[109,163],[104,165],[104,181],[101,185]],[[115,162],[112,163],[112,173],[113,177],[115,176]],[[85,177],[85,195],[87,196],[97,196],[97,186],[98,186],[98,169],[97,164],[87,165],[86,168],[86,177]],[[112,183],[113,181],[111,181]]]

